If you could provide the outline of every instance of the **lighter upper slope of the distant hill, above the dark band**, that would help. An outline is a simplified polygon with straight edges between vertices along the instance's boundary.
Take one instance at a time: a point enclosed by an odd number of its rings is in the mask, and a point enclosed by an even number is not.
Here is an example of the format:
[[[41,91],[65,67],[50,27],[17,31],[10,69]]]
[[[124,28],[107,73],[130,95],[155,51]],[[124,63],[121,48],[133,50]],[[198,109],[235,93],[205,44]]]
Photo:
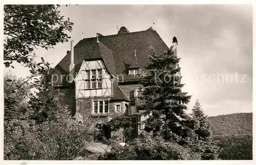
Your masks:
[[[252,113],[232,113],[208,117],[212,133],[219,135],[252,135]]]

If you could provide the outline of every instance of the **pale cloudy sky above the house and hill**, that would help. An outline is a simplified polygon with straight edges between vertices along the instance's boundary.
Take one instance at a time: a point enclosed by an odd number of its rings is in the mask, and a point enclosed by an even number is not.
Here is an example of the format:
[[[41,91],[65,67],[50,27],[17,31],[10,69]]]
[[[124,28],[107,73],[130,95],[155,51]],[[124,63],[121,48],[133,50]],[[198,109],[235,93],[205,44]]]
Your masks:
[[[60,14],[74,22],[68,33],[76,44],[96,33],[117,33],[116,25],[130,32],[155,30],[167,44],[178,39],[182,89],[191,95],[188,111],[199,99],[209,116],[252,112],[252,6],[251,5],[71,5]],[[59,43],[49,51],[38,49],[55,66],[70,49]],[[24,67],[5,68],[20,77]]]

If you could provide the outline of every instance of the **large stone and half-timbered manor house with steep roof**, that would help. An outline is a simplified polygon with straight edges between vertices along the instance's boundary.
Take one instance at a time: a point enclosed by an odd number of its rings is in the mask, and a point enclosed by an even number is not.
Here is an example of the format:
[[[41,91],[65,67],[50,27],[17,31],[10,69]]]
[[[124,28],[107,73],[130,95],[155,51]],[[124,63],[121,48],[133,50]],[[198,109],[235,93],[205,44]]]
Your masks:
[[[174,49],[177,39],[173,38]],[[59,89],[57,100],[75,116],[90,116],[103,123],[102,135],[109,138],[108,122],[113,115],[131,117],[133,130],[138,136],[144,129],[137,105],[145,103],[138,98],[142,93],[140,82],[148,70],[151,46],[156,54],[169,49],[159,34],[150,27],[145,31],[127,32],[82,38],[55,66],[52,85]]]

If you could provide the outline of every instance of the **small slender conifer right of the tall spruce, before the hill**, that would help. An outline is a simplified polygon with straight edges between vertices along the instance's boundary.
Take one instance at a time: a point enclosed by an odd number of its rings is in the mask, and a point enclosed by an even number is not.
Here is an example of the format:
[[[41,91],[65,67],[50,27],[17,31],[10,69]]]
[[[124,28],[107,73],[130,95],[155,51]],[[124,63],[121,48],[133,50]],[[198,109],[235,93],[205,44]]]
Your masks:
[[[193,118],[199,124],[195,132],[198,135],[199,143],[203,149],[201,157],[205,160],[214,160],[218,157],[220,149],[212,140],[211,124],[208,121],[208,116],[204,114],[199,100],[196,100],[192,111]]]

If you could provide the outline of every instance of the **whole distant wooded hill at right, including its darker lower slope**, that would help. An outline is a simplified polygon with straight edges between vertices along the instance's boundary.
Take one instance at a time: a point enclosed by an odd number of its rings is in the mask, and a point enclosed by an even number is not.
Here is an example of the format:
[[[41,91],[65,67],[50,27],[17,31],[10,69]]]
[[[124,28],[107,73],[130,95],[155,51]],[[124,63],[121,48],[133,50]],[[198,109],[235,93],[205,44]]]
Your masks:
[[[211,116],[212,133],[222,160],[252,160],[252,113]]]

